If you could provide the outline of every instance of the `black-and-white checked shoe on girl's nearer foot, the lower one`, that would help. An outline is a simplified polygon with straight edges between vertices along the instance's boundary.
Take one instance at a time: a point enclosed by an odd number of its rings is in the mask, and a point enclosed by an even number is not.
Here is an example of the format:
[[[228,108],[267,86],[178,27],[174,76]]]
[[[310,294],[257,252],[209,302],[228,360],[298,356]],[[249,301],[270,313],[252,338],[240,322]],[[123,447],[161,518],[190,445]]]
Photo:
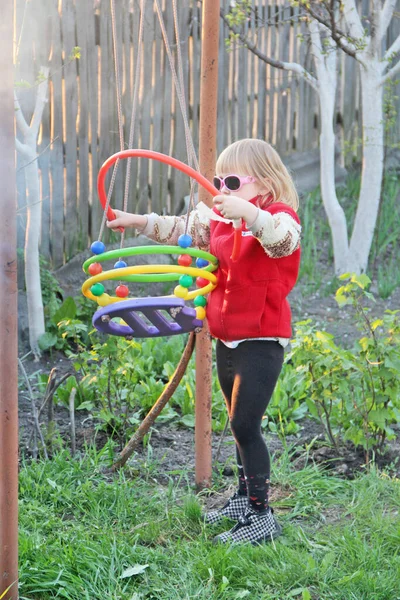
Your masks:
[[[276,522],[274,511],[269,506],[262,512],[257,512],[252,508],[239,517],[238,522],[229,531],[224,531],[215,536],[214,544],[238,544],[249,542],[250,544],[260,544],[270,542],[282,533],[282,528]]]

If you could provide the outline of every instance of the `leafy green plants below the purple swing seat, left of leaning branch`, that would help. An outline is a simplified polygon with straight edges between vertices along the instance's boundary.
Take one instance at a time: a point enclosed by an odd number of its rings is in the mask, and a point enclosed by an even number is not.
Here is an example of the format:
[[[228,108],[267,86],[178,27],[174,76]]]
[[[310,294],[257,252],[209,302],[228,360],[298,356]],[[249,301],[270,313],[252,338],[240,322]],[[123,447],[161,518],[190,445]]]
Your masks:
[[[83,402],[78,408],[89,410],[99,428],[124,443],[163,391],[183,352],[184,341],[182,337],[171,337],[137,342],[109,336],[105,342],[95,339],[90,350],[70,352],[81,376]],[[174,408],[179,401],[184,405],[186,396],[167,406],[159,422],[180,416]]]

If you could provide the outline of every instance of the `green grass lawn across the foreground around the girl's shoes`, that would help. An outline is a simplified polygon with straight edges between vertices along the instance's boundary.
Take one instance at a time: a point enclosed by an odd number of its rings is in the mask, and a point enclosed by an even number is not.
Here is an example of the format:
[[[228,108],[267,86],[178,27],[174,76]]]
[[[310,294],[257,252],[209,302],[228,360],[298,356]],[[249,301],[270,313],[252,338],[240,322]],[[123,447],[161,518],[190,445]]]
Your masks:
[[[184,476],[163,487],[163,467],[152,464],[136,479],[106,478],[106,458],[61,452],[21,469],[21,600],[400,598],[398,479],[373,470],[346,481],[312,464],[296,471],[286,453],[273,463],[284,535],[216,547],[224,526],[203,526]]]

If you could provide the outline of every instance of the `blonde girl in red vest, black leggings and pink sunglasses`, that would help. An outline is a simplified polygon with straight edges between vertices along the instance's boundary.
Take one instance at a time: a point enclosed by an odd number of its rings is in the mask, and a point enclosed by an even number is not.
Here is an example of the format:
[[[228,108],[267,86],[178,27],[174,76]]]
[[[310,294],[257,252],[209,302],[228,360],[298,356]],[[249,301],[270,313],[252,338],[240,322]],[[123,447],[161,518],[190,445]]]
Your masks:
[[[270,455],[261,421],[282,368],[291,337],[287,296],[300,263],[298,196],[276,151],[266,142],[244,139],[219,157],[214,186],[214,213],[193,210],[187,232],[193,246],[209,250],[219,261],[218,285],[210,293],[207,320],[217,338],[217,372],[236,442],[238,490],[207,523],[222,517],[236,525],[216,542],[271,540],[281,527],[268,505]],[[135,215],[115,211],[111,229],[134,227],[152,240],[176,244],[186,216]],[[225,220],[215,220],[214,214]],[[243,219],[239,259],[230,259],[234,230],[226,219]]]

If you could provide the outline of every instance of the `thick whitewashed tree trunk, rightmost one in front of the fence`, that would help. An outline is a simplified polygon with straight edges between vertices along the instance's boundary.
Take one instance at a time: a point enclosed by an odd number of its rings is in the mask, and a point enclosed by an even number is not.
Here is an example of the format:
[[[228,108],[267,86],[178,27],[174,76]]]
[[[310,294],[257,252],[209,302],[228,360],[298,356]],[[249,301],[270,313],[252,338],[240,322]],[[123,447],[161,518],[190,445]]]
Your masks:
[[[364,272],[368,266],[379,210],[383,177],[384,124],[382,63],[369,57],[361,66],[361,102],[363,119],[363,163],[361,190],[350,242],[352,271]]]

